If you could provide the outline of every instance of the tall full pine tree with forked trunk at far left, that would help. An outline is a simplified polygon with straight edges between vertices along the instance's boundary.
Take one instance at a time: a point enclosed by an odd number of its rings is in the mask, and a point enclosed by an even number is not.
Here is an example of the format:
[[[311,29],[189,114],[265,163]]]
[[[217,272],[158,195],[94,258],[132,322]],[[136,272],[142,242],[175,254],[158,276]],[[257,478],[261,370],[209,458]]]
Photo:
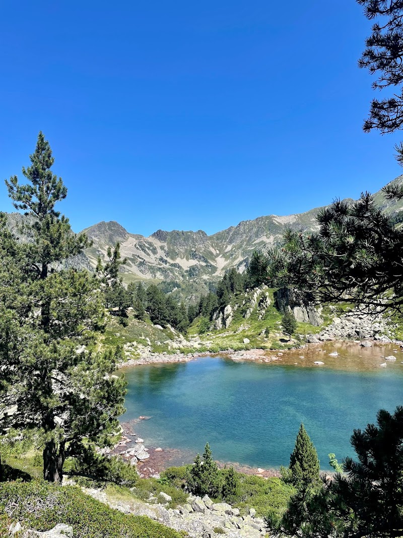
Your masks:
[[[1,328],[0,364],[13,372],[13,383],[0,386],[0,429],[41,431],[44,478],[60,482],[66,457],[88,443],[111,444],[124,410],[125,381],[111,375],[111,353],[85,350],[103,317],[99,281],[87,271],[55,270],[88,241],[75,236],[55,209],[67,189],[51,171],[54,159],[42,133],[30,159],[32,166],[23,168],[27,185],[17,176],[6,182],[15,207],[28,215],[30,241],[17,249],[21,261],[11,273],[6,257],[0,259],[0,322],[8,325]],[[2,233],[0,240],[1,249],[14,248],[10,236]],[[13,293],[19,299],[11,303],[6,299]]]

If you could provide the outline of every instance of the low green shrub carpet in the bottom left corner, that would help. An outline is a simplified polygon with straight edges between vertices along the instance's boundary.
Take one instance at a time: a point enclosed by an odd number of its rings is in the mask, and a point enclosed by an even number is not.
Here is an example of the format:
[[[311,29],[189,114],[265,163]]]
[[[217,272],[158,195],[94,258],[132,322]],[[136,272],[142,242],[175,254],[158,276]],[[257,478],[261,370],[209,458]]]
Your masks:
[[[10,519],[25,527],[49,530],[71,525],[80,538],[181,538],[175,530],[145,516],[126,515],[104,505],[78,487],[45,483],[0,484],[0,514],[12,506]]]

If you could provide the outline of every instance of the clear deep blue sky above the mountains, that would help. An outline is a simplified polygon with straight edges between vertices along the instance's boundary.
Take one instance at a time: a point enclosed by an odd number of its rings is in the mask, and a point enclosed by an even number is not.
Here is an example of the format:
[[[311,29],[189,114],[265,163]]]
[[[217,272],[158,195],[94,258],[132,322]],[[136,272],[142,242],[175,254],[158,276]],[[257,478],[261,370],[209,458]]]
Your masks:
[[[0,179],[42,130],[73,229],[143,235],[374,192],[401,169],[361,130],[369,29],[355,0],[3,2]]]

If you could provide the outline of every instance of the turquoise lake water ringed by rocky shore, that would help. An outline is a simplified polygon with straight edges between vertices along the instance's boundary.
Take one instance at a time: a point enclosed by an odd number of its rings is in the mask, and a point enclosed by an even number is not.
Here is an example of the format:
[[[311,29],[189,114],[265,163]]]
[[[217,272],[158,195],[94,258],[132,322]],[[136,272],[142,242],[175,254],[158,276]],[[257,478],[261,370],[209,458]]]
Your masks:
[[[176,448],[182,461],[208,441],[222,462],[263,468],[289,463],[301,422],[318,450],[354,456],[354,428],[375,422],[379,408],[403,404],[403,364],[370,371],[233,362],[220,357],[137,366],[125,372],[127,412],[149,447]],[[182,462],[176,462],[182,463]]]

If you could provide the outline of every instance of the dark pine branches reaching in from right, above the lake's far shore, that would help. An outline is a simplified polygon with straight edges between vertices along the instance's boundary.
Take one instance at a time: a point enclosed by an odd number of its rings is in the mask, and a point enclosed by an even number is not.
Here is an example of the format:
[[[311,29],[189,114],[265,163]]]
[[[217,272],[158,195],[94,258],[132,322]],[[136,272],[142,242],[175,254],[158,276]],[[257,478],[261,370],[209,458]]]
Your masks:
[[[376,206],[373,196],[335,201],[318,215],[319,232],[287,231],[277,257],[283,271],[277,286],[297,288],[307,301],[384,308],[403,306],[403,230]],[[392,292],[392,293],[390,293]]]

